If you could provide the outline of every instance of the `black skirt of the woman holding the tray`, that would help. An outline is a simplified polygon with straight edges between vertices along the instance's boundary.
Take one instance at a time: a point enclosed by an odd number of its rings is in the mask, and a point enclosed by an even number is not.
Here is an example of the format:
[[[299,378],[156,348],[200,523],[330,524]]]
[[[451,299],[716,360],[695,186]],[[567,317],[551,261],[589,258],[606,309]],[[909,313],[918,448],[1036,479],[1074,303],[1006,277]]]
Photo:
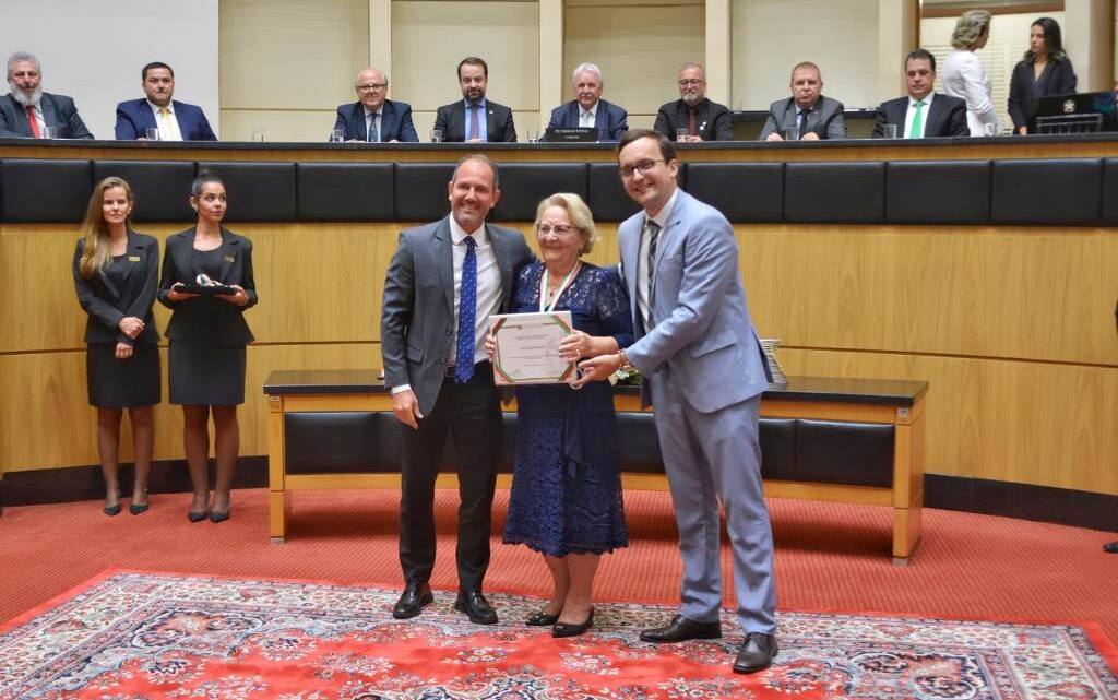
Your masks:
[[[169,384],[179,406],[236,406],[245,403],[245,347],[172,340]]]

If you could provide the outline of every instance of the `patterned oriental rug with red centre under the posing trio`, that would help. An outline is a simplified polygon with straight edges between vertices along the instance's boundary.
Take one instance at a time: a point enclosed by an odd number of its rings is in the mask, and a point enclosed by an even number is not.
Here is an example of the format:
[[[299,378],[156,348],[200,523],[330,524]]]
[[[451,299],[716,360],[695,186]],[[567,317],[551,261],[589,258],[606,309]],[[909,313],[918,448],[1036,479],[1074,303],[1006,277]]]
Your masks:
[[[638,641],[660,606],[600,605],[555,640],[520,622],[538,599],[493,594],[501,624],[482,626],[448,592],[392,619],[397,595],[108,570],[0,627],[0,699],[1118,699],[1118,653],[1090,626],[781,612],[777,663],[742,677],[740,633]]]

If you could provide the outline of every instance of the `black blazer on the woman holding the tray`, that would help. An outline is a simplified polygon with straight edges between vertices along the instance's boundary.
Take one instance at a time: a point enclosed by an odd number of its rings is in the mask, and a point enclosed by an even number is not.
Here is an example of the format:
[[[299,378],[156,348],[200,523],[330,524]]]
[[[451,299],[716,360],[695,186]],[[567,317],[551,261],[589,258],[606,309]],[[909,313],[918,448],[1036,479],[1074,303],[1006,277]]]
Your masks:
[[[239,284],[248,294],[248,303],[237,306],[214,296],[193,296],[172,302],[168,299],[176,282],[191,284],[193,271],[195,229],[167,237],[163,275],[159,282],[159,301],[174,310],[167,324],[170,340],[216,340],[227,347],[244,347],[256,340],[245,322],[244,311],[256,305],[256,281],[253,278],[253,243],[221,227],[221,274],[217,282]]]

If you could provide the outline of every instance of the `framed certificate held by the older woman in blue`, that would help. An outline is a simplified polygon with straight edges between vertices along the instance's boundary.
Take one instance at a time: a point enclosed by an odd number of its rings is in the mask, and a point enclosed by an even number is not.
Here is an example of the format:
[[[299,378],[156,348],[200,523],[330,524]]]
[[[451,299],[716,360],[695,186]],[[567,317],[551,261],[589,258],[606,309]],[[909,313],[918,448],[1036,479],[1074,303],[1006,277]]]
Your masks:
[[[574,331],[569,311],[493,314],[490,329],[496,340],[498,385],[562,384],[574,378],[575,362],[559,357],[559,342]]]

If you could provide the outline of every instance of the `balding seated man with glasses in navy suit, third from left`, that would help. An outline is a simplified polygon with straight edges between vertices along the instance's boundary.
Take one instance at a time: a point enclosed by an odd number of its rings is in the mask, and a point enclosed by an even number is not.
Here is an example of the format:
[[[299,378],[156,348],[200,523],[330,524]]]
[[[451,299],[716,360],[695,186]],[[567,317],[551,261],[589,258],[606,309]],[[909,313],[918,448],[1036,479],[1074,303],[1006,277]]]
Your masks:
[[[388,76],[373,67],[357,74],[357,102],[338,107],[334,131],[345,141],[371,143],[418,142],[411,105],[388,100]]]

